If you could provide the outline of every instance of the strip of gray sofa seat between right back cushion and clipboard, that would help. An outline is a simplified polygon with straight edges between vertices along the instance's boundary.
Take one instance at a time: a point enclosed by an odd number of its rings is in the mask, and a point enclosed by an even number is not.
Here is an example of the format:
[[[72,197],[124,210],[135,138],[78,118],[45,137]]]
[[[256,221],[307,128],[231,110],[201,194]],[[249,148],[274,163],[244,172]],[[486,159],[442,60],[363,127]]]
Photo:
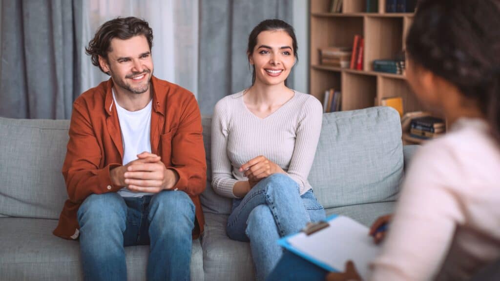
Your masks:
[[[392,213],[394,211],[394,207],[395,202],[388,201],[341,206],[325,209],[325,211],[326,215],[345,215],[369,227],[379,216]]]

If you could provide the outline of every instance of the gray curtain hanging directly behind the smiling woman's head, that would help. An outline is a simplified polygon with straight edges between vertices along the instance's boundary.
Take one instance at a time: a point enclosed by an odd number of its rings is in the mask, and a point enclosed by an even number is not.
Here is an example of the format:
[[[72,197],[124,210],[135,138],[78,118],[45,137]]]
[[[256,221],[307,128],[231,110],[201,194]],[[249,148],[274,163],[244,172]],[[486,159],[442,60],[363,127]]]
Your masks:
[[[212,114],[220,98],[251,85],[252,28],[267,18],[291,24],[292,0],[199,0],[199,13],[198,103],[202,114]]]

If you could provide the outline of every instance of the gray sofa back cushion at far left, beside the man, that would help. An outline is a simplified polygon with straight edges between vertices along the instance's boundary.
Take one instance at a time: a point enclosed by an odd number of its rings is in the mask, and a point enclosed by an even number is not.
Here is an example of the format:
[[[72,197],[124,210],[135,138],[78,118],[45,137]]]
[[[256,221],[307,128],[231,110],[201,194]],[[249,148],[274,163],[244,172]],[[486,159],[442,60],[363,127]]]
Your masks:
[[[59,217],[69,120],[0,117],[0,215]]]

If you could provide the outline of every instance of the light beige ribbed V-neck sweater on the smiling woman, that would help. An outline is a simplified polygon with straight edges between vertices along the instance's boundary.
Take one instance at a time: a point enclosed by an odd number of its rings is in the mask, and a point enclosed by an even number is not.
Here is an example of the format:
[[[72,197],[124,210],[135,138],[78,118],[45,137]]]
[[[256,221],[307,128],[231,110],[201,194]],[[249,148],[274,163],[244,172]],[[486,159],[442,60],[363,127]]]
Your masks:
[[[280,166],[300,187],[311,188],[307,176],[321,131],[322,106],[309,94],[294,95],[265,118],[244,104],[244,91],[225,96],[215,105],[211,131],[212,187],[226,197],[236,196],[236,181],[248,180],[239,167],[263,155]]]

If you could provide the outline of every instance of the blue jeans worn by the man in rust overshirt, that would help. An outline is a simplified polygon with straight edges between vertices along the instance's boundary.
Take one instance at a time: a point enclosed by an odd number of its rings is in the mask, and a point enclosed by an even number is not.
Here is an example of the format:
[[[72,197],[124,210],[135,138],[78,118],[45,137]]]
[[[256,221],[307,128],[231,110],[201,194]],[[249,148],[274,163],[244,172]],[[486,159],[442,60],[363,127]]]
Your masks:
[[[195,207],[183,191],[92,194],[78,209],[85,280],[126,280],[124,246],[149,246],[148,280],[189,280]]]

